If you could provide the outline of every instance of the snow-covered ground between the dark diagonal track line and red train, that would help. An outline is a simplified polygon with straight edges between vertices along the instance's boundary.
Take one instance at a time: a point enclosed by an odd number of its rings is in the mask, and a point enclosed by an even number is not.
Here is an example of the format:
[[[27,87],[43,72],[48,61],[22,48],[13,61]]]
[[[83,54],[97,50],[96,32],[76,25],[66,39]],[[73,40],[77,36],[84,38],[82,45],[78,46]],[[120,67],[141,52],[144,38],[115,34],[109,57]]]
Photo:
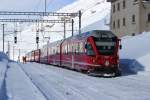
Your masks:
[[[147,80],[147,76],[139,76],[140,79],[136,75],[95,78],[39,64],[27,64],[23,66],[23,69],[52,100],[150,99],[150,80]]]

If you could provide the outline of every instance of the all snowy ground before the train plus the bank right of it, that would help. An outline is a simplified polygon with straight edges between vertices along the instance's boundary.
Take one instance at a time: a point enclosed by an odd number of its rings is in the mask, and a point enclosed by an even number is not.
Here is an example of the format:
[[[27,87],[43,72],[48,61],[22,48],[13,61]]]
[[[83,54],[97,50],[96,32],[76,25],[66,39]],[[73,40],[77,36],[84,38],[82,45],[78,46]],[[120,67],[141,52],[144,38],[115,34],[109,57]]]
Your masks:
[[[8,62],[1,54],[0,100],[149,100],[149,38],[150,32],[122,38],[123,75],[116,78],[92,77],[51,65]]]

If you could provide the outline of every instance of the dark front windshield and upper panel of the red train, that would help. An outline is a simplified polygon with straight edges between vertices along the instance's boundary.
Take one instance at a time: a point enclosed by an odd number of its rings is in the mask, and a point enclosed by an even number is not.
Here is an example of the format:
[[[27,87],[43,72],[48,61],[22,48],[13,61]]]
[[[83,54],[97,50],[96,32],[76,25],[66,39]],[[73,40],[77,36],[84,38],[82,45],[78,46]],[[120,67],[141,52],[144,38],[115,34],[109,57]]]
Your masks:
[[[101,55],[113,55],[117,37],[111,31],[95,31],[93,40]]]

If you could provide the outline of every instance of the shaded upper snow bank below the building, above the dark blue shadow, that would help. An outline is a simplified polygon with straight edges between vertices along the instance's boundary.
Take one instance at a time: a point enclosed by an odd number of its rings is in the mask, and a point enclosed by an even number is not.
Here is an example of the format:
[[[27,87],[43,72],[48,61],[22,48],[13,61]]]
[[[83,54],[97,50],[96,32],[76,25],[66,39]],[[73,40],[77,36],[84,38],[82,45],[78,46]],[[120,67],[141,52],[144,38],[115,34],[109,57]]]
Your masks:
[[[150,53],[150,32],[122,39],[123,49],[120,52],[121,58],[136,59]]]

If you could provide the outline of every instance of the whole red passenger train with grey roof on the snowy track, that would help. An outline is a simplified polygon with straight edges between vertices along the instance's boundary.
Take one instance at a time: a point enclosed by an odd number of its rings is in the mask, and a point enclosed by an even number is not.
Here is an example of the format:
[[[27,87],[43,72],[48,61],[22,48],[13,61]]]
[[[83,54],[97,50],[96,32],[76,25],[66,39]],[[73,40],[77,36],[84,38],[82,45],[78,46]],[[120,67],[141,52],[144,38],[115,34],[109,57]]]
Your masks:
[[[120,39],[111,31],[93,30],[44,45],[28,53],[27,60],[88,72],[120,75]]]

